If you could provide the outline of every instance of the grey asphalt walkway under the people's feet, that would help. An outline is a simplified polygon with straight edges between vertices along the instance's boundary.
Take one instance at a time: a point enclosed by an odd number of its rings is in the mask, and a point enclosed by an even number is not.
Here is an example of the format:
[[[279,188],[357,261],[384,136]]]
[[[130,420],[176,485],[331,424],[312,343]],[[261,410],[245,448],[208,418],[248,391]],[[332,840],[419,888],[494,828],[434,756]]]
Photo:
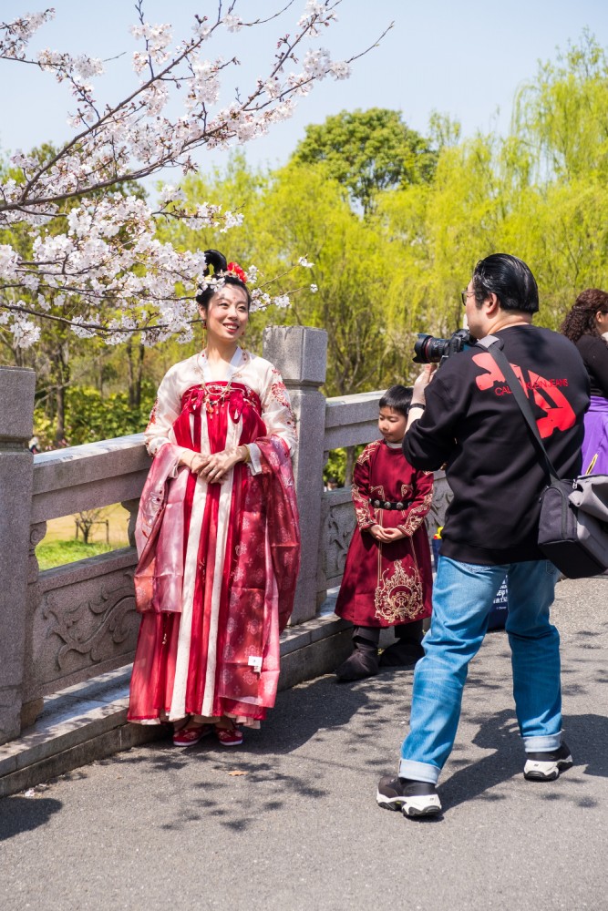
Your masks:
[[[608,577],[565,581],[564,724],[576,765],[527,783],[504,633],[471,663],[445,814],[376,807],[412,674],[280,694],[241,750],[156,742],[0,801],[0,907],[44,911],[608,909]]]

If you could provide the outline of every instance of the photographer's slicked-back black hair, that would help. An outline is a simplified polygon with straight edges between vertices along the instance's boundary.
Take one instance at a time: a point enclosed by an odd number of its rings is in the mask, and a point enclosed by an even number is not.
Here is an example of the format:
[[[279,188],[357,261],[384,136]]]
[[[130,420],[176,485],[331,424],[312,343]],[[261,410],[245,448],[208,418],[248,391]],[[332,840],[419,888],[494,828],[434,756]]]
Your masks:
[[[503,310],[535,313],[539,309],[539,289],[530,268],[510,253],[492,253],[479,260],[473,271],[473,291],[478,307],[494,293]]]

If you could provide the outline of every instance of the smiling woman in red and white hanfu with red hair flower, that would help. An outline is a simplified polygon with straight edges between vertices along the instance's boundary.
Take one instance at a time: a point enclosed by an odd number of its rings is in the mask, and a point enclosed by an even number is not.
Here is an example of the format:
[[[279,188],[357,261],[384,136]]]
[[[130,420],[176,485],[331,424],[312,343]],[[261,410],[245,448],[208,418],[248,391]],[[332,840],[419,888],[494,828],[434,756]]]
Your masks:
[[[205,257],[206,348],[170,368],[145,433],[154,460],[136,527],[129,721],[174,722],[177,746],[211,732],[235,746],[239,724],[259,727],[274,704],[294,603],[295,426],[278,371],[238,345],[244,272],[218,251]]]

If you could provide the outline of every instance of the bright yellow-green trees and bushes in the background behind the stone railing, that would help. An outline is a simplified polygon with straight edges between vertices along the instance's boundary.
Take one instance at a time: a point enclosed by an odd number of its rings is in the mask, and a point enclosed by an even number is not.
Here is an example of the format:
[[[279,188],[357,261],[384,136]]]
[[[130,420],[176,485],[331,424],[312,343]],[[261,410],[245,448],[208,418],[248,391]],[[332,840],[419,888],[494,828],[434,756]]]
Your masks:
[[[242,227],[203,233],[166,219],[160,240],[254,263],[263,284],[279,276],[264,290],[289,292],[292,307],[253,314],[247,347],[261,352],[268,323],[325,329],[328,395],[411,383],[416,334],[459,328],[459,292],[491,252],[529,263],[537,322],[554,329],[579,292],[606,286],[608,57],[593,36],[539,67],[516,98],[509,136],[462,140],[456,121],[434,113],[428,137],[397,111],[344,111],[307,128],[282,169],[251,169],[237,154],[184,181],[188,200],[242,211]],[[29,239],[19,241],[26,252]],[[301,256],[312,270],[297,265]],[[140,431],[162,375],[199,346],[167,343],[140,363],[135,345],[108,349],[54,327],[18,355],[39,377],[36,434],[52,445],[59,425],[70,443]],[[141,404],[129,405],[139,368]],[[325,477],[342,480],[345,454],[332,459]]]

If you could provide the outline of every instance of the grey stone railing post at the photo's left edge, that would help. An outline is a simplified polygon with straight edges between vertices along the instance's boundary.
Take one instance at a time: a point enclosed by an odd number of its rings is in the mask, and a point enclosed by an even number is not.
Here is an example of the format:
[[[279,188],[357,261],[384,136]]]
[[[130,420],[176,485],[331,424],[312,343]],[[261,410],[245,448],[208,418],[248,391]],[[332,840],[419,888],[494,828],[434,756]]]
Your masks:
[[[0,743],[21,732],[36,374],[0,367]]]

